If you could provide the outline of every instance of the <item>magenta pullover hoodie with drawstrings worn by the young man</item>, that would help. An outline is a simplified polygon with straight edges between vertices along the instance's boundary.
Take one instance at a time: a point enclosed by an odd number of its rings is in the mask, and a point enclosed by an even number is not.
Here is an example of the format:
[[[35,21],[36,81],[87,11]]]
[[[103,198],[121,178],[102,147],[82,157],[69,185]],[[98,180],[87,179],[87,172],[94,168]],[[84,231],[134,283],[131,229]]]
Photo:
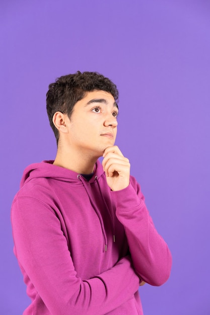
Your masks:
[[[143,314],[141,280],[163,284],[171,254],[135,179],[111,191],[52,161],[26,168],[12,205],[14,252],[32,302],[25,315]],[[139,280],[140,279],[140,280]]]

